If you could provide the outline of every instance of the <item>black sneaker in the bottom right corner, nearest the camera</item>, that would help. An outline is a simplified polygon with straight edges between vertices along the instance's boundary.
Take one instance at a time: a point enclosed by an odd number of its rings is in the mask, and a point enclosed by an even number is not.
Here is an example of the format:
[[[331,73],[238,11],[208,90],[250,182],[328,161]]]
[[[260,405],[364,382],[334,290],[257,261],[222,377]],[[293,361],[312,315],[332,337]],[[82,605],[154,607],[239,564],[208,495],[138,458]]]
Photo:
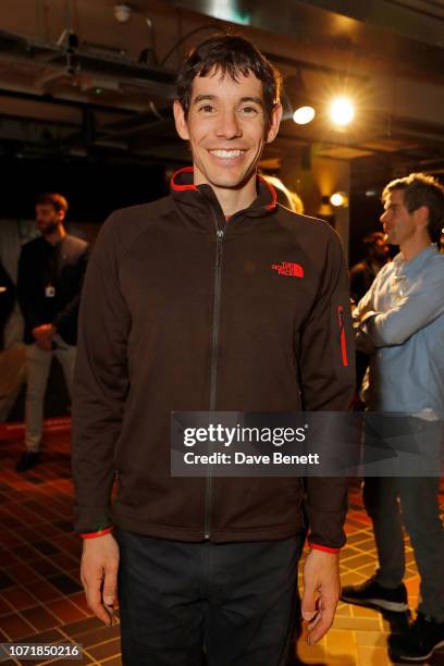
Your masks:
[[[444,622],[427,619],[422,613],[400,636],[388,638],[388,651],[395,662],[423,662],[444,648]]]

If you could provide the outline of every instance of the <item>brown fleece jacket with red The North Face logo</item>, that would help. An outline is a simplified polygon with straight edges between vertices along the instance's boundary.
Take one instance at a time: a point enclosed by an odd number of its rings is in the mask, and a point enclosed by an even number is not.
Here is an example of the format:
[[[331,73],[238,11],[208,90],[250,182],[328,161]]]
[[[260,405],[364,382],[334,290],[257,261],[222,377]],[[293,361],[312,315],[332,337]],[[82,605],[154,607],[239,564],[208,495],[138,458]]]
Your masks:
[[[171,411],[349,408],[347,271],[329,224],[258,197],[229,222],[192,170],[114,212],[85,280],[73,400],[76,529],[213,542],[345,541],[345,479],[172,478]],[[116,473],[119,490],[111,506]],[[306,496],[305,496],[306,493]]]

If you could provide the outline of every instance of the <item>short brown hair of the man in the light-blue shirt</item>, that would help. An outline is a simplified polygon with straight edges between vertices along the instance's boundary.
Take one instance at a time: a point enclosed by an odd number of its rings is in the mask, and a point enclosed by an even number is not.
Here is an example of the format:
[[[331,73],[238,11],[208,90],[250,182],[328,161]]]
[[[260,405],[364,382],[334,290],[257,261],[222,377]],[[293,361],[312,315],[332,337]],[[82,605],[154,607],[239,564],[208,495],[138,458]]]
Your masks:
[[[410,173],[404,178],[396,178],[384,187],[382,201],[393,190],[404,193],[404,203],[408,212],[414,212],[421,206],[429,209],[428,232],[432,243],[439,243],[444,225],[444,187],[427,173]]]

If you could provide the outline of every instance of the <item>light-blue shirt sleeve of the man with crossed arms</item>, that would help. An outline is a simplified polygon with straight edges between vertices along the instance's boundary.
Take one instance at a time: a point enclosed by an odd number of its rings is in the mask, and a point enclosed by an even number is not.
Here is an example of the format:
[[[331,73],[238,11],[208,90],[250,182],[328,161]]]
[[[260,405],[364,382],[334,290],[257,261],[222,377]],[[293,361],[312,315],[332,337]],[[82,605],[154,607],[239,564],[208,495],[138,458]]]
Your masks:
[[[416,285],[386,312],[366,320],[367,334],[375,347],[402,345],[444,312],[444,272],[435,271]]]

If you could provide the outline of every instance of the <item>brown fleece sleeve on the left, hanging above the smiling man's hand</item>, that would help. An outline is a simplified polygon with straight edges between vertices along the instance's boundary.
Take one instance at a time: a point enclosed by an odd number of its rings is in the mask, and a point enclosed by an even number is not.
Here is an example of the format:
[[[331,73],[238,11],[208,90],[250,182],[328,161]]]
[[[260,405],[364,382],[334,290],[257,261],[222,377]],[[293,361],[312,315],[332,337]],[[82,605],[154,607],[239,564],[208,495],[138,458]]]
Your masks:
[[[119,283],[115,214],[102,226],[86,271],[73,386],[72,467],[75,529],[110,526],[114,448],[128,391],[131,318]]]

